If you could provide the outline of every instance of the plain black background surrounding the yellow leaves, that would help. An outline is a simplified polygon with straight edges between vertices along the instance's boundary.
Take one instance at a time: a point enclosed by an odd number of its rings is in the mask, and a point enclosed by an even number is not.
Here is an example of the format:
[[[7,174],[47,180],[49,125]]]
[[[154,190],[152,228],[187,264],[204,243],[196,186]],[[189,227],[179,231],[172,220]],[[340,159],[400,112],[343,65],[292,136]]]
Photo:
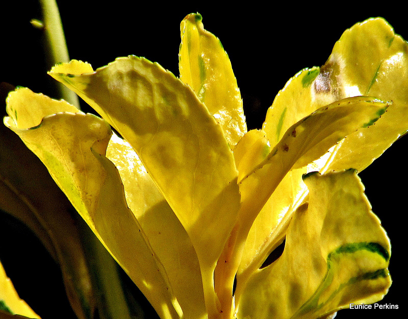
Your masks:
[[[302,6],[292,2],[261,5],[254,1],[192,5],[71,0],[58,1],[58,5],[72,59],[87,61],[96,68],[118,56],[134,54],[159,62],[175,75],[179,73],[180,21],[189,13],[199,12],[205,28],[220,38],[232,61],[249,128],[260,128],[267,108],[286,81],[304,67],[324,64],[334,43],[354,23],[382,16],[396,33],[408,39],[407,17],[402,8],[384,3],[378,7],[370,4],[368,8],[358,2]],[[41,32],[29,23],[31,18],[41,16],[37,2],[2,2],[0,16],[0,82],[27,86],[55,97],[49,85],[54,80],[46,75],[49,66],[44,64]],[[87,110],[84,103],[82,108]],[[360,174],[373,211],[392,243],[389,269],[394,282],[379,303],[398,305],[399,309],[342,310],[337,318],[398,318],[405,310],[402,256],[406,242],[403,222],[407,212],[407,139],[398,140]],[[0,258],[16,286],[22,287],[20,297],[34,309],[41,309],[43,319],[69,317],[63,308],[66,305],[55,301],[63,293],[58,268],[45,251],[39,250],[30,234],[21,235],[19,226],[6,219],[0,218]],[[11,232],[6,230],[10,227]],[[24,286],[28,290],[23,290]]]

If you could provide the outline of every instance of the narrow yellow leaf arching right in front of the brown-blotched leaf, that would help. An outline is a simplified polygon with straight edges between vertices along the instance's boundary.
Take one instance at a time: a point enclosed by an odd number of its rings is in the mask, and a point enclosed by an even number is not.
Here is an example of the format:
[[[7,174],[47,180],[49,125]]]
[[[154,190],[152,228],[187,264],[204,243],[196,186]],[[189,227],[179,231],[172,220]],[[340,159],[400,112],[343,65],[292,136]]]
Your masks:
[[[303,167],[323,156],[331,146],[351,132],[365,127],[367,123],[378,117],[379,112],[384,112],[387,107],[387,103],[380,102],[372,97],[353,97],[323,107],[290,127],[265,160],[240,180],[241,209],[233,233],[235,238],[231,237],[223,252],[222,256],[225,256],[223,258],[227,260],[229,259],[228,256],[233,254],[239,256],[239,258],[235,257],[235,259],[239,260],[243,254],[247,254],[244,257],[245,263],[259,261],[258,258],[261,256],[257,256],[252,250],[244,251],[244,245],[254,220],[288,172]],[[295,197],[292,200],[296,199]],[[282,232],[285,231],[291,216],[286,214],[284,217],[284,223],[281,225]],[[277,223],[282,222],[282,220],[280,220],[277,211],[274,212],[272,218],[274,220],[268,217],[265,222],[274,223],[270,225],[273,230]],[[234,246],[235,251],[233,253],[230,252],[230,246]],[[248,247],[250,246],[247,245]],[[219,264],[216,275],[226,274],[223,275],[225,281],[229,280],[231,282],[239,267],[239,264],[227,264],[225,268],[228,268],[228,271],[224,271],[222,264]],[[253,267],[253,264],[245,265],[245,267]],[[240,272],[244,270],[242,269]],[[247,275],[249,274],[247,273]],[[237,280],[238,292],[236,299],[239,299],[241,289],[238,285],[245,285],[245,279],[242,280],[242,277],[240,279],[240,283]]]

